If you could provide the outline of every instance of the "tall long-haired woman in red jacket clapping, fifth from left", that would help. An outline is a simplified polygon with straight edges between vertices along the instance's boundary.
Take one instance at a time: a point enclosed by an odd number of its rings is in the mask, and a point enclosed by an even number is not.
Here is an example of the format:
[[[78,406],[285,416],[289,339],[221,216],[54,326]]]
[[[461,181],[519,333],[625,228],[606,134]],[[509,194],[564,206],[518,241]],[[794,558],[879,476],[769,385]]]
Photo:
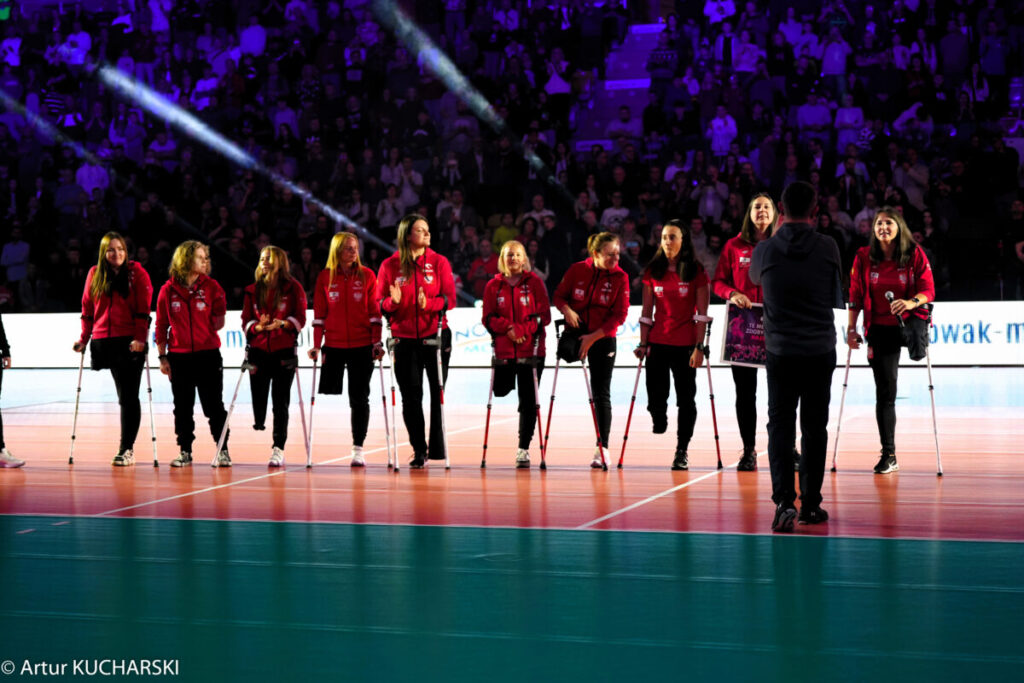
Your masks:
[[[449,260],[430,249],[427,219],[412,213],[398,222],[398,251],[384,259],[377,276],[375,299],[389,318],[394,347],[394,373],[401,390],[401,417],[413,445],[410,467],[422,469],[426,460],[444,460],[437,347],[425,342],[437,338],[443,311],[455,308],[455,280]],[[452,331],[441,331],[441,381],[447,380]],[[430,441],[424,436],[423,374],[430,387]]]

